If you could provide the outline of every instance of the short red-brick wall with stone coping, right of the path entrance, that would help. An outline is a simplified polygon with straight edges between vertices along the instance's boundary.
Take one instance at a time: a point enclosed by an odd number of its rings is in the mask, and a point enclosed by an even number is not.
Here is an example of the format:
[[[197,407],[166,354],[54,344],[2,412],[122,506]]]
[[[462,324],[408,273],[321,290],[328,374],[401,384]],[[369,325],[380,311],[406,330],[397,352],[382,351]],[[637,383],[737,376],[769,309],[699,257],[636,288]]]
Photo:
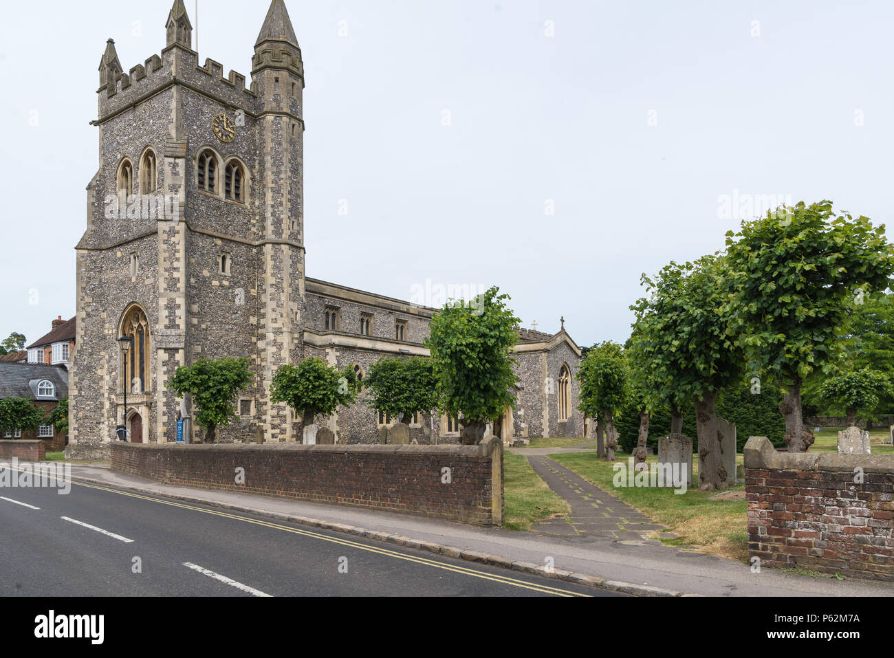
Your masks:
[[[761,566],[894,581],[894,455],[778,452],[752,436],[745,491]]]

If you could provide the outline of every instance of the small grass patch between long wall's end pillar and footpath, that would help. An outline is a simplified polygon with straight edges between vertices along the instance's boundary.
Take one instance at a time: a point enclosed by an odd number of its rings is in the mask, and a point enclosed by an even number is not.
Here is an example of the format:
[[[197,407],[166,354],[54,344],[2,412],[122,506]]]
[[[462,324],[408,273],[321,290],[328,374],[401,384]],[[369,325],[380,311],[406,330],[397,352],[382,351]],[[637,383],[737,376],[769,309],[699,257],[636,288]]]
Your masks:
[[[530,530],[531,524],[567,514],[568,503],[554,493],[522,455],[503,453],[503,527]]]

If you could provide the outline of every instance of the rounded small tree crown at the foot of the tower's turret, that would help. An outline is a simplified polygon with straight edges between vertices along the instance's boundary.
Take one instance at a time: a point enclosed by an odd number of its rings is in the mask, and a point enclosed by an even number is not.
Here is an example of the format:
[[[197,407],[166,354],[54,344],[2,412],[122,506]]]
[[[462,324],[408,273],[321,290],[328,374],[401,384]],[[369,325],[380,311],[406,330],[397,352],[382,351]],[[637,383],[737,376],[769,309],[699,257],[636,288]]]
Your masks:
[[[317,414],[330,416],[339,405],[350,407],[359,388],[353,368],[339,370],[315,357],[298,366],[280,366],[270,384],[270,401],[285,402],[301,417],[302,425],[308,426]]]

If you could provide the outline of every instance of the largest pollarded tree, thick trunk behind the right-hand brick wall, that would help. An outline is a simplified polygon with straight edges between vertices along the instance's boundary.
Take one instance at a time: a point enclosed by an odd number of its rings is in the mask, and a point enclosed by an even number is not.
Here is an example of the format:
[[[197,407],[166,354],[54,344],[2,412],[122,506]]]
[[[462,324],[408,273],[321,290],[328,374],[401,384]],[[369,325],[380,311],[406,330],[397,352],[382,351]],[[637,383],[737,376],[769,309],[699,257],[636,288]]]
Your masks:
[[[789,451],[803,452],[814,435],[804,426],[801,385],[814,369],[835,363],[848,312],[888,288],[894,247],[883,225],[835,215],[831,201],[782,207],[727,236],[730,331],[752,371],[769,373],[786,389],[786,442]]]

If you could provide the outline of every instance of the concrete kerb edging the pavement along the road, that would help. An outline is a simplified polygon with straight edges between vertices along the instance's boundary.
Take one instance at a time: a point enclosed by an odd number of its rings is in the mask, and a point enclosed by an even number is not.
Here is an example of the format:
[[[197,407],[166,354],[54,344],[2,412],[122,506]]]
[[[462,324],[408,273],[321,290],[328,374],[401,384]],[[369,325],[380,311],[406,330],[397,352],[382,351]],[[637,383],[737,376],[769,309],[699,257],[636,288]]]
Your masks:
[[[72,477],[73,481],[86,482],[91,485],[109,486],[104,480],[93,477]],[[219,507],[223,510],[240,511],[247,514],[257,514],[260,517],[268,519],[278,519],[281,521],[290,521],[300,526],[318,527],[323,530],[333,530],[348,535],[362,536],[366,539],[374,539],[375,541],[385,542],[387,544],[396,544],[406,546],[407,548],[415,548],[429,553],[443,555],[449,558],[459,558],[462,560],[481,562],[493,567],[502,567],[503,569],[512,569],[543,578],[552,578],[555,580],[565,580],[577,585],[594,587],[596,589],[604,589],[610,592],[620,592],[622,594],[635,596],[699,596],[695,594],[687,594],[678,592],[673,589],[664,589],[663,587],[653,587],[648,585],[637,585],[637,583],[625,583],[620,580],[606,580],[596,576],[587,576],[582,573],[575,573],[565,569],[547,569],[543,564],[534,564],[532,562],[512,561],[501,555],[488,555],[487,553],[479,553],[468,549],[457,548],[447,544],[437,544],[436,542],[428,542],[412,537],[393,535],[379,530],[367,530],[363,527],[349,526],[344,523],[333,523],[332,521],[324,521],[321,519],[312,519],[310,517],[299,517],[292,514],[283,514],[282,512],[261,510],[244,505],[234,505],[230,502],[207,501],[196,496],[186,496],[180,493],[164,493],[156,491],[156,489],[148,489],[146,487],[131,485],[114,485],[116,488],[126,489],[138,493],[147,493],[149,495],[158,496],[160,498],[170,498],[174,501],[193,502],[199,505],[208,505],[210,507]]]

